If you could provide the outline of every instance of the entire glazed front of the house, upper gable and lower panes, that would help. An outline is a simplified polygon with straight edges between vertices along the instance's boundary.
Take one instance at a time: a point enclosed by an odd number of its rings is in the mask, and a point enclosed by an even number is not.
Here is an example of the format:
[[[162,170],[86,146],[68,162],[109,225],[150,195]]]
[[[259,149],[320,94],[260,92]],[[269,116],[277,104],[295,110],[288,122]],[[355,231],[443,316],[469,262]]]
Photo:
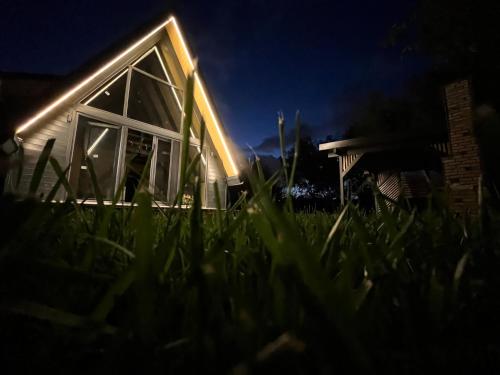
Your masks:
[[[172,78],[183,85],[185,77],[175,56],[172,58],[166,50],[160,51],[161,44],[158,44],[95,90],[82,103],[179,133],[183,92],[172,85]],[[104,117],[109,121],[120,121],[117,116]],[[200,123],[201,114],[195,104],[191,137],[198,137]],[[80,116],[70,176],[79,198],[95,197],[88,173],[88,160],[92,160],[104,199],[111,200],[117,189],[117,181],[123,180],[125,187],[122,198],[125,201],[131,201],[138,190],[147,190],[155,200],[173,203],[179,191],[180,141],[159,138],[168,137],[165,135],[167,132],[146,134],[131,127],[136,127],[132,121],[124,121],[122,128]],[[137,128],[147,129],[143,126]],[[126,137],[120,137],[122,131],[126,132]],[[121,150],[120,142],[123,142]],[[193,160],[199,153],[199,146],[191,145],[189,160]],[[153,165],[148,163],[150,156]],[[199,170],[201,177],[203,204],[207,194],[206,156],[201,153],[196,172],[198,174]],[[144,176],[142,180],[141,176]],[[191,178],[185,186],[184,203],[192,201],[193,188],[194,179]]]

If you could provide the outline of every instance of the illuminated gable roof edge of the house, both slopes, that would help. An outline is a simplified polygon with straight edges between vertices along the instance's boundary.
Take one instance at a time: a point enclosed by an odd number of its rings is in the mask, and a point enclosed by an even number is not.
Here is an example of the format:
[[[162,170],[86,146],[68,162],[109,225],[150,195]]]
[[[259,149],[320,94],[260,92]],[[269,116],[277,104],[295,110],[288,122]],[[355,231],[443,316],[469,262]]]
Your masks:
[[[207,92],[205,83],[203,82],[200,73],[195,71],[195,64],[189,52],[189,48],[177,20],[173,16],[168,17],[165,21],[152,28],[148,33],[145,33],[142,37],[132,42],[128,47],[109,58],[97,69],[77,81],[73,86],[65,88],[65,90],[63,90],[58,97],[39,109],[32,117],[19,123],[16,127],[16,134],[22,135],[22,133],[26,132],[29,128],[32,128],[37,124],[41,124],[44,120],[49,119],[51,115],[55,114],[65,105],[74,103],[81,96],[82,92],[87,92],[92,89],[99,77],[102,77],[103,74],[107,74],[108,72],[111,73],[116,71],[116,69],[119,68],[120,63],[129,58],[134,51],[139,50],[141,46],[151,40],[151,38],[161,33],[166,33],[168,35],[173,52],[177,56],[183,73],[187,76],[189,73],[194,71],[194,99],[201,115],[205,120],[207,132],[213,143],[215,151],[222,161],[227,176],[237,176],[238,168],[228,141],[226,140],[222,123],[217,115],[213,101]]]

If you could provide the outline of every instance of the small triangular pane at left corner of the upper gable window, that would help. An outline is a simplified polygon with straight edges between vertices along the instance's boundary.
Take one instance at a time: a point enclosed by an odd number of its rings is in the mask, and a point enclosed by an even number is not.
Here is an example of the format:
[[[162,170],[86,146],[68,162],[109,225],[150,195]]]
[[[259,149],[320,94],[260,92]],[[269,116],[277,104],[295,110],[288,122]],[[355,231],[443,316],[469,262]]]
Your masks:
[[[127,84],[126,73],[127,71],[125,70],[117,77],[110,80],[107,84],[85,99],[83,103],[108,112],[123,115],[125,86]]]

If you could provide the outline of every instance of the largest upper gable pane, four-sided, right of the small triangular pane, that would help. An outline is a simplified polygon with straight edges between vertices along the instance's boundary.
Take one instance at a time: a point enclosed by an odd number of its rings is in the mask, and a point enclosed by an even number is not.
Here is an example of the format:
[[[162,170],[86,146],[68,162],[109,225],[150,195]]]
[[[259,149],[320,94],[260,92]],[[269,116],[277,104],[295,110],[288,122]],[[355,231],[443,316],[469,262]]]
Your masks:
[[[127,116],[176,132],[180,129],[181,110],[172,87],[136,71],[132,73]]]

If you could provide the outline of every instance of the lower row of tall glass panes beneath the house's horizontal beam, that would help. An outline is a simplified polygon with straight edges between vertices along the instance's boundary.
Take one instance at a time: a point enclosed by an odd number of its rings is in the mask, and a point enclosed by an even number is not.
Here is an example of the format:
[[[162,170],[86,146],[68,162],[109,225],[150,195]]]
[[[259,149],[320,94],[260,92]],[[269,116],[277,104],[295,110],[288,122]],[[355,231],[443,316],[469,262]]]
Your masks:
[[[127,132],[124,149],[120,149],[121,129],[118,126],[79,115],[72,158],[70,182],[79,199],[93,199],[95,189],[90,176],[92,163],[98,187],[105,200],[116,194],[117,181],[124,181],[123,200],[131,202],[137,191],[148,191],[154,199],[172,204],[179,190],[180,142],[160,139],[152,134],[133,129]],[[156,150],[155,150],[156,147]],[[122,162],[119,155],[122,155]],[[188,163],[197,155],[198,163],[191,176],[187,176],[184,204],[191,204],[195,177],[200,177],[202,205],[206,205],[206,153],[197,145],[189,146]],[[154,160],[154,168],[150,168]],[[148,162],[149,161],[149,162]],[[119,165],[123,174],[118,176]]]

